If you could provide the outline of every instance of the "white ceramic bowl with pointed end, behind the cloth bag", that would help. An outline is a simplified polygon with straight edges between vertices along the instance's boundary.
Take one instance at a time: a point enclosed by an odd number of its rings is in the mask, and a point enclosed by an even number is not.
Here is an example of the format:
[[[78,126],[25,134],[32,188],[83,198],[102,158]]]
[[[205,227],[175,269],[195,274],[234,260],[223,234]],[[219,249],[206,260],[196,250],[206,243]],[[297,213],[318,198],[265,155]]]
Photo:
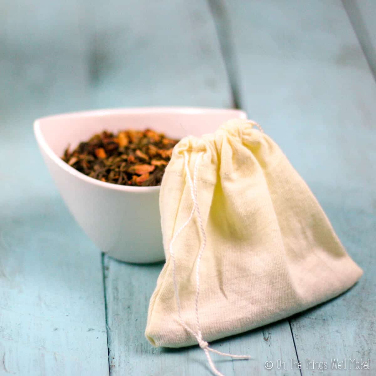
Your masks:
[[[128,108],[77,112],[41,118],[34,132],[44,161],[74,218],[110,256],[127,262],[165,258],[159,215],[159,186],[135,187],[101,182],[61,160],[95,133],[151,128],[171,138],[214,132],[243,111],[206,108]],[[71,150],[72,150],[71,149]]]

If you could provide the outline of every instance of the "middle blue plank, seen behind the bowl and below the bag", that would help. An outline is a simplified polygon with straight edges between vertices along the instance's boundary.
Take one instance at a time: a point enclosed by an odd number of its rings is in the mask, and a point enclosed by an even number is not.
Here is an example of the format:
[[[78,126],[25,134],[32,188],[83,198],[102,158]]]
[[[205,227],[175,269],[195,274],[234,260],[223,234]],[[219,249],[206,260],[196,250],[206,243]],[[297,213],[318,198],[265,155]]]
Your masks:
[[[134,101],[138,105],[157,101],[159,104],[231,106],[226,71],[206,3],[171,1],[164,2],[163,7],[150,2],[132,4],[121,17],[114,14],[112,7],[106,6],[98,11],[106,22],[113,18],[111,24],[117,25],[115,28],[123,30],[131,25],[126,30],[130,30],[132,38],[140,43],[136,44],[126,33],[119,39],[111,38],[111,43],[117,47],[111,47],[109,52],[115,54],[118,49],[131,52],[128,55],[125,52],[120,54],[120,62],[124,59],[123,63],[117,65],[113,77],[106,73],[106,78],[99,83],[104,89],[98,95],[111,92],[111,97],[121,97],[123,90],[126,90],[129,96],[124,100],[130,103]],[[100,29],[102,26],[99,24],[98,27]],[[100,30],[97,32],[101,35]],[[146,40],[140,41],[140,36]],[[133,49],[130,41],[133,41]],[[135,56],[132,55],[133,51]],[[153,64],[158,64],[158,68],[153,69]],[[136,69],[143,73],[135,76]],[[123,82],[123,77],[132,77],[129,88],[125,83],[121,89],[116,86],[118,80]],[[213,82],[215,77],[215,88],[209,89],[208,77],[212,77]],[[155,88],[150,82],[158,82],[160,87]],[[130,97],[132,91],[135,91],[134,98]],[[105,262],[111,375],[208,374],[205,354],[198,346],[180,350],[155,349],[144,337],[147,308],[162,264],[128,265],[108,257],[105,257]],[[250,353],[258,359],[233,362],[214,356],[218,368],[226,375],[259,374],[268,359],[275,362],[278,358],[290,359],[295,356],[288,323],[278,323],[217,341],[214,347],[226,352]],[[268,374],[280,372],[271,370]]]

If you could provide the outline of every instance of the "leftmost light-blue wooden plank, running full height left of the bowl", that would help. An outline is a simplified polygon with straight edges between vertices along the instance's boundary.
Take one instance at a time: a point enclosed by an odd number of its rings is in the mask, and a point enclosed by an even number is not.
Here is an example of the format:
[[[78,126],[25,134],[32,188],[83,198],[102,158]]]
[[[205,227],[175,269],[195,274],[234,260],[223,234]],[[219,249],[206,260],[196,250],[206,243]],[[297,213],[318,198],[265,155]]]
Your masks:
[[[32,131],[36,117],[87,107],[77,4],[0,8],[0,374],[108,375],[100,253]]]

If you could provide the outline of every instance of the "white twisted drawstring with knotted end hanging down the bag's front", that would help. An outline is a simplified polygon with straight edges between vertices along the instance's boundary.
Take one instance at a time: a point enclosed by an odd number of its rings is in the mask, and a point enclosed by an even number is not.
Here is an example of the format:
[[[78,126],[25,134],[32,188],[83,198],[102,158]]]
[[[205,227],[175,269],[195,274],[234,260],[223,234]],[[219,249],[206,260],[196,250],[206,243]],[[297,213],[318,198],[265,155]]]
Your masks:
[[[203,338],[202,338],[200,321],[199,321],[200,261],[201,261],[202,253],[203,253],[205,246],[206,246],[206,234],[205,234],[204,226],[202,224],[202,218],[201,218],[199,204],[197,202],[197,169],[198,169],[199,161],[200,161],[202,154],[203,154],[202,152],[199,153],[199,155],[196,158],[196,162],[194,164],[193,181],[192,181],[190,170],[189,170],[189,167],[188,167],[188,155],[187,155],[186,152],[184,152],[184,166],[185,166],[186,176],[188,178],[188,183],[189,183],[190,188],[191,188],[191,197],[192,197],[192,201],[193,201],[193,208],[192,208],[191,214],[188,217],[188,219],[186,220],[186,222],[180,227],[179,230],[177,230],[177,232],[173,236],[171,243],[170,243],[169,250],[170,250],[171,259],[172,259],[172,262],[173,262],[173,282],[174,282],[174,290],[175,290],[175,298],[176,298],[176,303],[177,303],[177,312],[178,312],[179,322],[186,329],[186,331],[188,331],[191,335],[193,335],[193,337],[196,338],[199,346],[205,352],[206,358],[208,359],[210,368],[213,371],[213,373],[216,374],[217,376],[223,376],[223,374],[220,373],[217,370],[217,368],[215,368],[214,362],[212,361],[212,359],[210,357],[209,351],[216,353],[218,355],[229,356],[233,359],[249,359],[250,356],[248,356],[248,355],[232,355],[232,354],[223,353],[223,352],[214,350],[211,347],[209,347],[209,344],[206,341],[204,341]],[[194,308],[195,308],[195,314],[196,314],[196,326],[197,326],[196,332],[193,331],[184,322],[184,320],[182,319],[182,316],[181,316],[179,291],[177,289],[177,282],[176,282],[176,261],[175,261],[174,251],[173,251],[174,241],[179,236],[179,234],[182,232],[182,230],[190,223],[190,221],[193,218],[194,212],[197,212],[197,220],[198,220],[198,223],[199,223],[200,232],[201,232],[201,236],[202,236],[202,243],[201,243],[201,246],[200,246],[199,255],[197,256],[197,264],[196,264],[196,296],[195,296],[195,300],[194,300]]]

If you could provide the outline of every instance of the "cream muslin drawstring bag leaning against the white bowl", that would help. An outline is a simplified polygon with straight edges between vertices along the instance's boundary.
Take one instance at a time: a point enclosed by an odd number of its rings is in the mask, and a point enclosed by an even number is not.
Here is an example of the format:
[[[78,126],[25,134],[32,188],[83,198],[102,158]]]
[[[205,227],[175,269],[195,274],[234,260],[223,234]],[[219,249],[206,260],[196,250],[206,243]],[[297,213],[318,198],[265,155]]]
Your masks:
[[[207,341],[329,300],[362,275],[306,183],[254,126],[230,120],[183,138],[159,196],[166,263],[145,334],[154,346],[198,343],[217,375]]]

